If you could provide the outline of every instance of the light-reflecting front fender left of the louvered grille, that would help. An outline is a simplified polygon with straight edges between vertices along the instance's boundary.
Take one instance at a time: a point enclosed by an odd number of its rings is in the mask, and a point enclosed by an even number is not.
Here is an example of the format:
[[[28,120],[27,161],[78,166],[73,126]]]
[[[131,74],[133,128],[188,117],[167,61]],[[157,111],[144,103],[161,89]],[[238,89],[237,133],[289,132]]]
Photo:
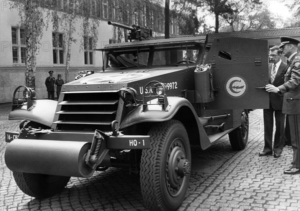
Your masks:
[[[27,105],[19,106],[8,115],[9,120],[29,120],[51,127],[55,114],[57,101],[36,100],[33,101],[34,108],[27,110]]]

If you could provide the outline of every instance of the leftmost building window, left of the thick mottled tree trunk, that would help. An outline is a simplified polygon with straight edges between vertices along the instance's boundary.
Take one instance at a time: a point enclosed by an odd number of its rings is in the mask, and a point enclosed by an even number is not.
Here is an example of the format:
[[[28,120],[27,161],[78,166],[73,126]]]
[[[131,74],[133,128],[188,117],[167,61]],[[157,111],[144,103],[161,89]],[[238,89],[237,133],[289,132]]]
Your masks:
[[[11,27],[12,63],[24,64],[26,61],[26,38],[24,29]]]

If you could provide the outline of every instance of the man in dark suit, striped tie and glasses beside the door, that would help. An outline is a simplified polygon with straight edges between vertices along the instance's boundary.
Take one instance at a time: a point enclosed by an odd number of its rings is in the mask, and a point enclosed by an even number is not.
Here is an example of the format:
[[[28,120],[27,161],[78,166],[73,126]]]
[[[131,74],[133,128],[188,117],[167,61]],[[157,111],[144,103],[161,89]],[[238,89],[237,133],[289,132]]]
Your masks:
[[[284,71],[286,64],[280,59],[281,51],[278,46],[269,49],[268,83],[274,86],[280,86],[284,83]],[[280,157],[284,145],[284,120],[285,114],[282,114],[283,97],[278,93],[269,93],[269,108],[263,109],[264,124],[264,147],[259,152],[259,156],[265,156],[274,152],[274,157]],[[275,116],[275,136],[272,147],[273,137],[273,119]]]

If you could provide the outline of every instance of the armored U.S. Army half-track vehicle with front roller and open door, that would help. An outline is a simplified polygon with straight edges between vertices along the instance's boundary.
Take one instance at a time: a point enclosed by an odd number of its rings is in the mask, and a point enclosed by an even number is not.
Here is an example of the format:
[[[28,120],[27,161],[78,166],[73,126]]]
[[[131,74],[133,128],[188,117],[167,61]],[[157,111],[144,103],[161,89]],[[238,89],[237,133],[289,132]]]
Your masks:
[[[26,194],[58,193],[109,167],[139,173],[150,210],[176,210],[188,187],[191,145],[248,139],[251,109],[267,108],[267,41],[185,37],[107,45],[103,68],[64,84],[58,102],[20,86],[5,163]]]

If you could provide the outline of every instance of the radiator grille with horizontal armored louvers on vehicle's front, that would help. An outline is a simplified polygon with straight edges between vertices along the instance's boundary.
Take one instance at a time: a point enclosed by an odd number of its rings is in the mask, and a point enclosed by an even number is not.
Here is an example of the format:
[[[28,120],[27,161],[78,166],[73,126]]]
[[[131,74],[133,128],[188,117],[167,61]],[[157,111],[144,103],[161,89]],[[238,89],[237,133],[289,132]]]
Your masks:
[[[58,103],[56,130],[111,131],[116,117],[119,96],[117,92],[64,92]],[[59,109],[60,108],[60,109]],[[58,117],[58,118],[57,118]]]

